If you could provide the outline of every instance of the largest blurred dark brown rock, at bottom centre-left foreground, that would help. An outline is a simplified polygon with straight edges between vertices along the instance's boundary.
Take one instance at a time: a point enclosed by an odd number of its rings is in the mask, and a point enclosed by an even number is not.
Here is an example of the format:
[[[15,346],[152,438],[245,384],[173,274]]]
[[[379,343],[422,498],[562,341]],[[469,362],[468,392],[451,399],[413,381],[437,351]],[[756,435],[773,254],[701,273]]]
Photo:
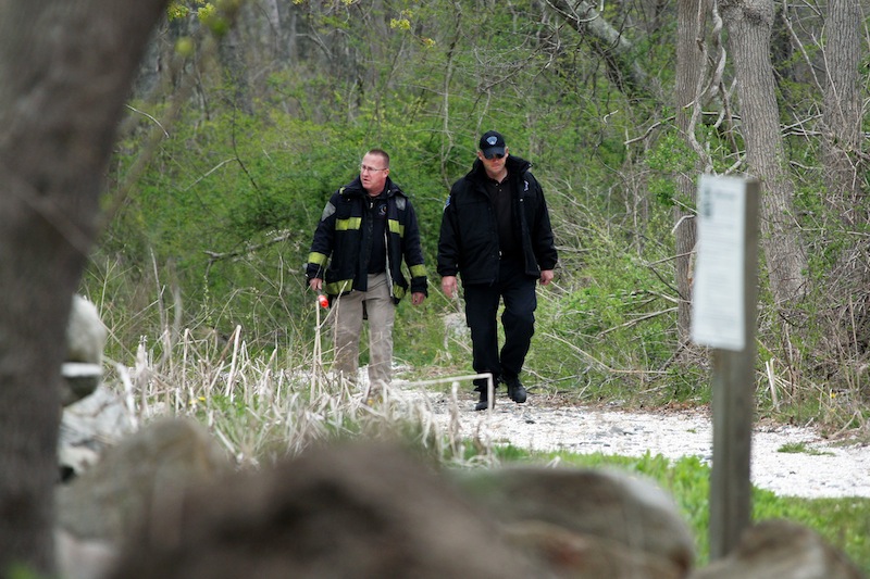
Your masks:
[[[316,449],[150,515],[113,579],[536,576],[492,517],[385,444]]]

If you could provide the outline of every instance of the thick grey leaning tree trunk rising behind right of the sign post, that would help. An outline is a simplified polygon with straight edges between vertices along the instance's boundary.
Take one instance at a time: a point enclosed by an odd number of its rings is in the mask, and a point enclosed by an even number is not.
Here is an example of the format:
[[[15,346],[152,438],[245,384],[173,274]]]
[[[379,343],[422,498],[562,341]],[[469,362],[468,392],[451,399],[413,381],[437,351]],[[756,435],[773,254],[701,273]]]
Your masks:
[[[770,62],[773,0],[720,0],[720,10],[737,79],[748,173],[761,180],[761,247],[770,287],[776,303],[787,307],[805,291],[807,259],[794,215],[794,182]]]

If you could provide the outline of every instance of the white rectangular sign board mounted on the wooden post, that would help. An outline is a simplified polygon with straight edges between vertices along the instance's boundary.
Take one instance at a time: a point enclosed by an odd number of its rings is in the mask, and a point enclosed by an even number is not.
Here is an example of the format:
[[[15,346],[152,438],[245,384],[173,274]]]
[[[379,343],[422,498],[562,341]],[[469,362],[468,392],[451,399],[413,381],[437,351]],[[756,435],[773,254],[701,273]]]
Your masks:
[[[742,351],[746,348],[746,181],[701,175],[697,219],[692,339],[700,345]]]

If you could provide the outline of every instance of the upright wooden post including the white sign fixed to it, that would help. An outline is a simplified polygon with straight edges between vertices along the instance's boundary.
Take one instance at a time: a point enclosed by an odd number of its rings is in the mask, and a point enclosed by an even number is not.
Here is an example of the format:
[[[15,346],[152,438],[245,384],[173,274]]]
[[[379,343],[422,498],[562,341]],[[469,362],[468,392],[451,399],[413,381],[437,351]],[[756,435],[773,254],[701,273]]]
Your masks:
[[[711,561],[728,555],[736,546],[751,518],[758,194],[757,180],[732,177],[703,178],[699,191],[700,247],[696,290],[707,294],[693,297],[693,306],[696,303],[701,304],[697,323],[693,315],[693,336],[699,343],[713,347],[713,464],[709,529]],[[720,197],[718,207],[714,206],[717,196]],[[737,214],[723,217],[721,212],[729,210],[734,210]],[[708,231],[703,230],[705,211],[708,212]],[[720,212],[718,217],[714,214],[717,211]],[[717,218],[719,223],[716,223]],[[731,235],[736,238],[729,239]],[[712,248],[712,255],[704,254],[705,237],[709,243],[707,249]],[[734,253],[723,255],[722,252],[728,252],[730,242],[733,242]],[[720,247],[716,248],[717,244]],[[703,274],[701,261],[705,259],[708,267]],[[711,260],[718,260],[718,263],[711,265]],[[700,275],[706,276],[704,282]],[[722,291],[723,281],[726,286],[730,280],[735,281],[735,286],[729,291],[741,294],[723,300],[723,295],[716,293]],[[726,303],[723,305],[721,302]]]

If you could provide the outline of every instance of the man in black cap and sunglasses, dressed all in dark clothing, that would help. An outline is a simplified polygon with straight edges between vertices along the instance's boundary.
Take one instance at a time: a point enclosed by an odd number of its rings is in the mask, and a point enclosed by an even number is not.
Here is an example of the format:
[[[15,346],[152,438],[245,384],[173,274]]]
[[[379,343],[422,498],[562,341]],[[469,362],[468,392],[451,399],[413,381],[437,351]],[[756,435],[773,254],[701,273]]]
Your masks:
[[[520,372],[535,332],[535,282],[549,284],[557,261],[547,203],[531,166],[508,154],[499,133],[485,133],[471,172],[450,189],[438,240],[438,274],[448,298],[457,294],[457,275],[462,277],[474,370],[492,373],[496,388],[505,383],[517,403],[526,399]],[[490,407],[486,380],[474,385],[481,394],[474,410]]]

